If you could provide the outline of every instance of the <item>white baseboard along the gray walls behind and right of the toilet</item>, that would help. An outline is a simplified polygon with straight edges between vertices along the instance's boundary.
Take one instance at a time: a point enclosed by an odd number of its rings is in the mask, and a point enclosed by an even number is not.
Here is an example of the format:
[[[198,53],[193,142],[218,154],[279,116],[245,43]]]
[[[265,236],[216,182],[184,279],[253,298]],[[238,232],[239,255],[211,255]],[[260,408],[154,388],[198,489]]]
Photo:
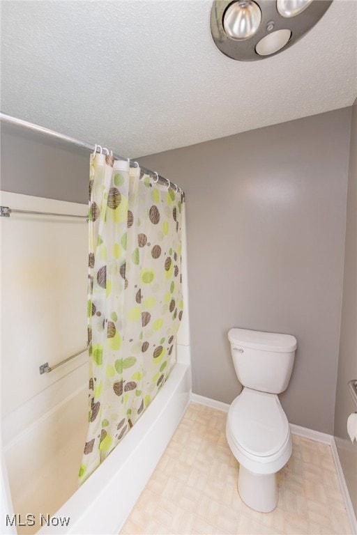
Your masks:
[[[213,409],[222,410],[222,412],[228,412],[229,404],[222,403],[222,401],[215,401],[215,399],[205,398],[204,396],[199,396],[199,394],[191,393],[191,401],[193,403],[199,403],[200,405],[206,405],[206,407],[211,407]],[[335,462],[336,472],[338,479],[340,481],[342,496],[344,498],[344,505],[346,507],[347,516],[349,518],[349,523],[351,525],[352,534],[357,535],[357,520],[354,513],[354,506],[351,502],[351,497],[349,495],[349,490],[347,488],[346,480],[344,479],[344,473],[340,463],[340,457],[338,456],[335,437],[333,435],[328,435],[327,433],[320,433],[320,431],[314,431],[313,429],[308,429],[307,427],[296,426],[296,424],[289,424],[290,431],[293,435],[298,437],[307,438],[309,440],[314,440],[315,442],[321,442],[321,444],[328,444],[331,447],[333,460]]]

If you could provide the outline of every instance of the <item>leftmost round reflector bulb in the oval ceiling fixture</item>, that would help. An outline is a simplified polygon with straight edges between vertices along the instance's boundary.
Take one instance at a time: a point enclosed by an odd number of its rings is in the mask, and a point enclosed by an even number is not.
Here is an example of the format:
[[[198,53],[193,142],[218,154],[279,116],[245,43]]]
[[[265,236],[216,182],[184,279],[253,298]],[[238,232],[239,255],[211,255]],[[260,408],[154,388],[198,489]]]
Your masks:
[[[261,22],[261,10],[252,0],[240,0],[227,8],[223,28],[231,39],[243,40],[254,36]]]

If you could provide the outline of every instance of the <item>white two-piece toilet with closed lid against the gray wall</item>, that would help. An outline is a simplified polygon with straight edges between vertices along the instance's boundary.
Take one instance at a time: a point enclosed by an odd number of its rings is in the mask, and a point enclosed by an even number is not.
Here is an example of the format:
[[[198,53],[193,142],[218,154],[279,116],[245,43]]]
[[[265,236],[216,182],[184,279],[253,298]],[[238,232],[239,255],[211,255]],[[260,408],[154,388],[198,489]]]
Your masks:
[[[296,338],[248,329],[230,329],[228,339],[243,390],[231,403],[227,442],[239,463],[238,493],[255,511],[278,504],[276,474],[291,456],[289,422],[278,394],[289,385]]]

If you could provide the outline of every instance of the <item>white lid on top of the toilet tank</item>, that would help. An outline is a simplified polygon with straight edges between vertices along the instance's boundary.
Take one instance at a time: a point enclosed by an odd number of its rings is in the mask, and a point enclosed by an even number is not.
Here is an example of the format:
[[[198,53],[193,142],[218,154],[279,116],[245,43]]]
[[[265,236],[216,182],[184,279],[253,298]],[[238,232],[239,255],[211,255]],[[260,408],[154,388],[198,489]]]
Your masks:
[[[230,329],[228,339],[237,346],[261,351],[284,353],[295,351],[297,346],[296,338],[291,334],[250,331],[248,329]]]

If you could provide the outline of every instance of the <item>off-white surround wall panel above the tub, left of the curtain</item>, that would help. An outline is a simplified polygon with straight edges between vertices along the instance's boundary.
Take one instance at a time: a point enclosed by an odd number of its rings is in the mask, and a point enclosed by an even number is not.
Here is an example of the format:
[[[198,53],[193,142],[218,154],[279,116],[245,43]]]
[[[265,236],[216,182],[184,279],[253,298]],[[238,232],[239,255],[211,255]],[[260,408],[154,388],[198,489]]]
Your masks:
[[[20,210],[77,215],[88,210],[79,203],[10,192],[0,192],[0,199],[2,206]],[[7,443],[29,421],[61,403],[69,394],[61,378],[88,362],[84,351],[55,371],[39,373],[41,364],[57,364],[86,347],[88,246],[85,219],[14,214],[0,223],[1,298],[11,303],[1,317],[1,354],[10,356],[1,362],[1,417],[6,419]],[[17,388],[4,380],[20,376],[26,379]]]

